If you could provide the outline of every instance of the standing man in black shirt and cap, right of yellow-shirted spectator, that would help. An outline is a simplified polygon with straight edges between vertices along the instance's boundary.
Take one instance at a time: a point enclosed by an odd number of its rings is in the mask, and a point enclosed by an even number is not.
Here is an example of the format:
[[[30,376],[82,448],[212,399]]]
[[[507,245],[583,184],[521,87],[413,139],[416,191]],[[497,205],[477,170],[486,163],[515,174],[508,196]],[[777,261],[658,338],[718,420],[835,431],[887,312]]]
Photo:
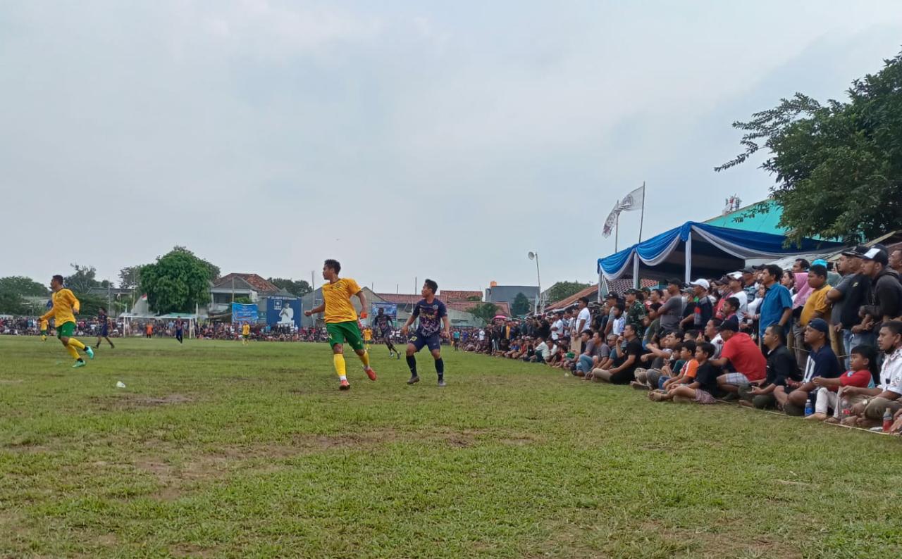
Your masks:
[[[851,348],[858,345],[876,346],[874,333],[864,329],[858,313],[870,300],[870,278],[861,272],[861,254],[864,252],[868,252],[868,247],[863,245],[842,252],[836,261],[842,280],[827,291],[827,298],[833,302],[830,324],[839,331],[842,339],[846,369],[850,366],[848,356]]]

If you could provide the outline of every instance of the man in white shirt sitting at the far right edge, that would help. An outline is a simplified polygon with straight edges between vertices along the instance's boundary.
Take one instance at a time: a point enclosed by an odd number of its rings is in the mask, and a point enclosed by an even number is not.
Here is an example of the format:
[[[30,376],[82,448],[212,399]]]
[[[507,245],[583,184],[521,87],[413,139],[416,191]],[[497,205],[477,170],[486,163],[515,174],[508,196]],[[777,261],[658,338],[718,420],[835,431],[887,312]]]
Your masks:
[[[861,402],[851,407],[849,417],[842,420],[843,425],[871,427],[883,421],[883,415],[889,409],[897,414],[902,409],[899,396],[902,395],[902,321],[891,320],[880,326],[877,336],[880,351],[886,353],[883,366],[880,368],[879,387],[861,389],[849,387],[844,390],[847,395],[862,395]]]

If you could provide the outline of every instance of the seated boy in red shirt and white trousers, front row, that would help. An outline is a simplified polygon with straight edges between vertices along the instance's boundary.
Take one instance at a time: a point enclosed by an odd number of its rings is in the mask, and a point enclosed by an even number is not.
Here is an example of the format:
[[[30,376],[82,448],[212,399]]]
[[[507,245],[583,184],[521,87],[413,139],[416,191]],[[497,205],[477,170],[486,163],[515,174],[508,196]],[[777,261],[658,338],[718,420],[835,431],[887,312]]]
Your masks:
[[[874,388],[874,371],[877,367],[877,348],[871,345],[858,345],[852,348],[849,355],[851,368],[840,375],[838,379],[826,379],[815,377],[817,396],[815,399],[815,413],[805,419],[824,421],[833,409],[831,423],[839,423],[842,420],[842,410],[848,410],[855,404],[864,400],[861,394],[848,393],[849,387],[868,389]]]

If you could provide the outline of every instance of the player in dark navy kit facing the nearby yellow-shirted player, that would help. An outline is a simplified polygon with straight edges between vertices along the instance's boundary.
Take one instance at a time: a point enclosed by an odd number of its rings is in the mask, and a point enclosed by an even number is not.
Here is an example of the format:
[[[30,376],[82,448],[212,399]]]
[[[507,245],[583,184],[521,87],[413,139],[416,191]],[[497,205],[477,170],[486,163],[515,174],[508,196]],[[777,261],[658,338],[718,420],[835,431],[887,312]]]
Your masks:
[[[410,325],[413,324],[415,318],[419,316],[419,325],[417,331],[410,338],[407,344],[407,366],[410,367],[410,379],[408,384],[419,382],[417,375],[417,358],[414,353],[423,349],[423,346],[429,348],[432,358],[436,361],[436,372],[438,373],[438,386],[445,386],[445,362],[442,361],[441,338],[438,331],[441,329],[439,321],[444,324],[444,335],[448,340],[451,339],[451,323],[448,321],[448,311],[445,303],[436,298],[438,284],[433,280],[423,282],[421,291],[423,298],[419,300],[417,306],[413,308],[413,313],[407,319],[407,322],[401,327],[400,333],[407,335]]]

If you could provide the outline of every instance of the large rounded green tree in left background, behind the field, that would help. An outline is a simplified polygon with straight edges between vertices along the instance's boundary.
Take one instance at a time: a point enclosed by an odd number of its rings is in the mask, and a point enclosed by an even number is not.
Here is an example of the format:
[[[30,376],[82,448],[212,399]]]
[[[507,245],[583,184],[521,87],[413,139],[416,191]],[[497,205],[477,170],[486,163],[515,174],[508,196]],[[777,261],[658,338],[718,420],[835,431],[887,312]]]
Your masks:
[[[176,247],[141,268],[141,290],[155,312],[189,313],[210,301],[209,262]],[[217,272],[218,273],[218,272]]]

